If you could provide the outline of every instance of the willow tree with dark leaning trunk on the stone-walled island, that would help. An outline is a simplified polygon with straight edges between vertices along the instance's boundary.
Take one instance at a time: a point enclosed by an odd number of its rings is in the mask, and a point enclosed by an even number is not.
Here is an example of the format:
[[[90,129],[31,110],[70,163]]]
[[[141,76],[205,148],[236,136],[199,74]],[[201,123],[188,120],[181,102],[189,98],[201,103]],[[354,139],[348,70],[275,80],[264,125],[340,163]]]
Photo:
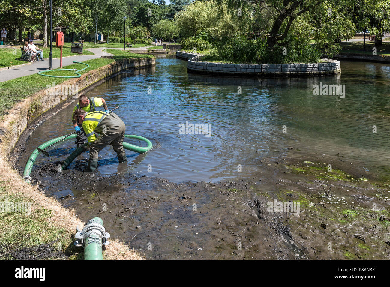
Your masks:
[[[351,34],[353,25],[350,15],[345,13],[355,0],[217,0],[218,4],[227,4],[229,9],[246,8],[261,21],[265,15],[269,18],[266,48],[272,51],[275,45],[284,45],[289,34],[310,34],[318,42],[324,42],[324,35],[333,41],[339,32]],[[305,27],[305,31],[299,27]],[[345,31],[347,27],[348,31]],[[316,30],[317,33],[314,33]],[[326,33],[323,31],[326,30]],[[322,31],[322,32],[321,32]],[[318,38],[316,39],[316,36]]]

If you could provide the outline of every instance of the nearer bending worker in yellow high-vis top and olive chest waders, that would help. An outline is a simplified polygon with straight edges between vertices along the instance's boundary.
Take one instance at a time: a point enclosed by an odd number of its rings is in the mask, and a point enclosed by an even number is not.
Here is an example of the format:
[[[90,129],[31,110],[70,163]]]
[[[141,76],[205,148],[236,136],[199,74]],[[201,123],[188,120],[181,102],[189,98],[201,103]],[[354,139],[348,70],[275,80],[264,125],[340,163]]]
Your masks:
[[[118,154],[119,162],[126,161],[126,153],[123,149],[123,139],[126,126],[115,113],[90,112],[77,109],[73,113],[73,119],[82,125],[88,138],[89,162],[87,172],[93,172],[97,167],[99,151],[107,145],[112,145]],[[99,134],[96,137],[95,133]]]

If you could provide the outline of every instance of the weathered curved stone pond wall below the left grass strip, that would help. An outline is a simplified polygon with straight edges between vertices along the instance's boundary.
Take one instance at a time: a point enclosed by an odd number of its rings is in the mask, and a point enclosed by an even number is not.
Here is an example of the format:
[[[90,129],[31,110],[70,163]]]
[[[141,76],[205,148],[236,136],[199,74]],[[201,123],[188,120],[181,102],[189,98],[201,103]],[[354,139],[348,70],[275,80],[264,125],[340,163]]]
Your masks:
[[[11,110],[6,111],[7,115],[2,117],[3,120],[0,124],[0,143],[3,155],[5,158],[9,158],[21,133],[23,133],[31,122],[51,108],[73,97],[76,92],[80,92],[97,81],[103,80],[123,69],[150,67],[155,64],[155,58],[122,59],[82,74],[80,78],[73,78],[55,85],[55,87],[43,89],[22,100]],[[74,93],[68,93],[69,89],[62,89],[65,85],[68,87],[77,85],[78,89],[76,91],[72,89]]]

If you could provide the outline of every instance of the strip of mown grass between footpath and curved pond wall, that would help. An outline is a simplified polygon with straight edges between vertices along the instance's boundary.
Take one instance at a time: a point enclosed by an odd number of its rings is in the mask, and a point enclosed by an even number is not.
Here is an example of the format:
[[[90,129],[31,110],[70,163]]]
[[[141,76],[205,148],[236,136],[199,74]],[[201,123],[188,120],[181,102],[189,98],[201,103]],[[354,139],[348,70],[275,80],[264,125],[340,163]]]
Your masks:
[[[145,58],[145,57],[154,57],[152,55],[141,55],[130,53],[123,50],[113,50],[108,49],[108,53],[111,53],[113,59],[111,58],[96,58],[92,60],[87,60],[84,63],[88,64],[90,67],[81,71],[80,74],[85,74],[89,71],[97,69],[108,65],[116,60],[121,60],[123,58]],[[63,67],[64,69],[82,69],[85,67],[83,64],[72,64],[69,66]],[[74,76],[74,71],[52,71],[48,72],[50,75],[54,76]],[[52,85],[53,82],[55,85],[60,84],[64,81],[69,80],[69,78],[52,78],[41,76],[39,74],[33,74],[29,76],[23,76],[9,81],[4,81],[0,83],[0,115],[4,115],[4,110],[12,108],[18,101],[25,99],[28,96],[39,92],[40,90],[45,89],[46,85]]]

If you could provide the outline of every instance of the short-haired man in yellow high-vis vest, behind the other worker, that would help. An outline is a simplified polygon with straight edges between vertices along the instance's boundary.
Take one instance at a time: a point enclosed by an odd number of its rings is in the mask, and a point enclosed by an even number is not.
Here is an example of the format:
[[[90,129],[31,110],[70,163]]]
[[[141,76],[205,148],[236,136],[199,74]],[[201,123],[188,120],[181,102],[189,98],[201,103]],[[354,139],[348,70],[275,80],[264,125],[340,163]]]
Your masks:
[[[107,108],[106,101],[102,97],[87,97],[85,95],[82,95],[78,97],[78,104],[74,106],[72,115],[75,110],[77,109],[83,109],[85,112],[94,112],[96,111],[96,107],[103,106],[105,109],[105,112],[109,113],[110,111]],[[76,130],[76,141],[74,142],[77,147],[80,145],[83,145],[87,141],[87,136],[85,135],[85,132],[81,130],[80,126],[78,126],[77,122],[72,117],[72,122],[74,125],[74,129]]]

